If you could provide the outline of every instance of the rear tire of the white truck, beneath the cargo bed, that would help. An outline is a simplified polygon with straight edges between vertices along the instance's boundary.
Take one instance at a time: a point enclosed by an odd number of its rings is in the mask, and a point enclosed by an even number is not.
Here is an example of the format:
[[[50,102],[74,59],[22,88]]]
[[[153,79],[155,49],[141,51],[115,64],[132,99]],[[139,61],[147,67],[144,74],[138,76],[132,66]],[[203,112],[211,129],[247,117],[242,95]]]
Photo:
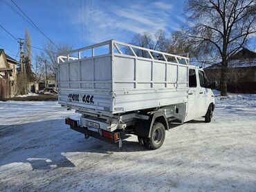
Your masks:
[[[165,126],[160,122],[154,122],[149,138],[143,138],[143,144],[147,148],[157,149],[165,140]]]

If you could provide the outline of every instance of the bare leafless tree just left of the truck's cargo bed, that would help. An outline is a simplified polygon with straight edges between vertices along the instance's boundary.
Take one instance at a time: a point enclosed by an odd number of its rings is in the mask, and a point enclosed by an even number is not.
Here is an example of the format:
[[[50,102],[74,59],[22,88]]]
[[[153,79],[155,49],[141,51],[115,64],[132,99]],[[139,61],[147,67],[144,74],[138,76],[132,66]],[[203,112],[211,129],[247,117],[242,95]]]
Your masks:
[[[39,56],[42,61],[46,60],[48,73],[53,75],[56,78],[57,75],[57,56],[64,55],[66,52],[71,51],[72,46],[68,44],[58,44],[55,46],[52,42],[44,46],[44,52]]]

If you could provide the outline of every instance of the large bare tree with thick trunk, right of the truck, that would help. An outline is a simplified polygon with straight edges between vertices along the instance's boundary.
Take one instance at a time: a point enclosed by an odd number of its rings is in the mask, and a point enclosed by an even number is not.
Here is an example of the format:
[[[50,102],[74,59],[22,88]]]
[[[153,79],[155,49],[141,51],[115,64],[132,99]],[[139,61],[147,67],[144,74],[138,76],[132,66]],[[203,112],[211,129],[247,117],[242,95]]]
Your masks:
[[[255,0],[188,0],[185,12],[194,49],[221,59],[221,95],[227,95],[228,61],[256,32]]]

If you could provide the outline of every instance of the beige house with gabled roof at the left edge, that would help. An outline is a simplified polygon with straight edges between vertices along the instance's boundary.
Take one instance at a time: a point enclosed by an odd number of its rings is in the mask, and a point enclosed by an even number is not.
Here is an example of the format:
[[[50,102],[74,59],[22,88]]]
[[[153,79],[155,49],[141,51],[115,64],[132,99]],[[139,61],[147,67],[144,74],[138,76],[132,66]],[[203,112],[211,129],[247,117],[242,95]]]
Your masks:
[[[17,94],[17,64],[18,61],[0,49],[0,99]]]

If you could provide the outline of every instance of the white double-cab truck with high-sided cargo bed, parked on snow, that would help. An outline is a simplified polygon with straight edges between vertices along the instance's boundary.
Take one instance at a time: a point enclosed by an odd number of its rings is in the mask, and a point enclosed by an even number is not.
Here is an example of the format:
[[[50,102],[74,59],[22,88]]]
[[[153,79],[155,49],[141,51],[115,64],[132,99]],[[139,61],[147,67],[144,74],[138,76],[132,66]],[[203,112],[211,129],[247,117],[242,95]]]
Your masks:
[[[203,70],[188,57],[110,40],[57,61],[59,103],[82,114],[80,121],[65,122],[85,138],[120,147],[125,132],[156,149],[168,122],[211,121],[214,95]]]

